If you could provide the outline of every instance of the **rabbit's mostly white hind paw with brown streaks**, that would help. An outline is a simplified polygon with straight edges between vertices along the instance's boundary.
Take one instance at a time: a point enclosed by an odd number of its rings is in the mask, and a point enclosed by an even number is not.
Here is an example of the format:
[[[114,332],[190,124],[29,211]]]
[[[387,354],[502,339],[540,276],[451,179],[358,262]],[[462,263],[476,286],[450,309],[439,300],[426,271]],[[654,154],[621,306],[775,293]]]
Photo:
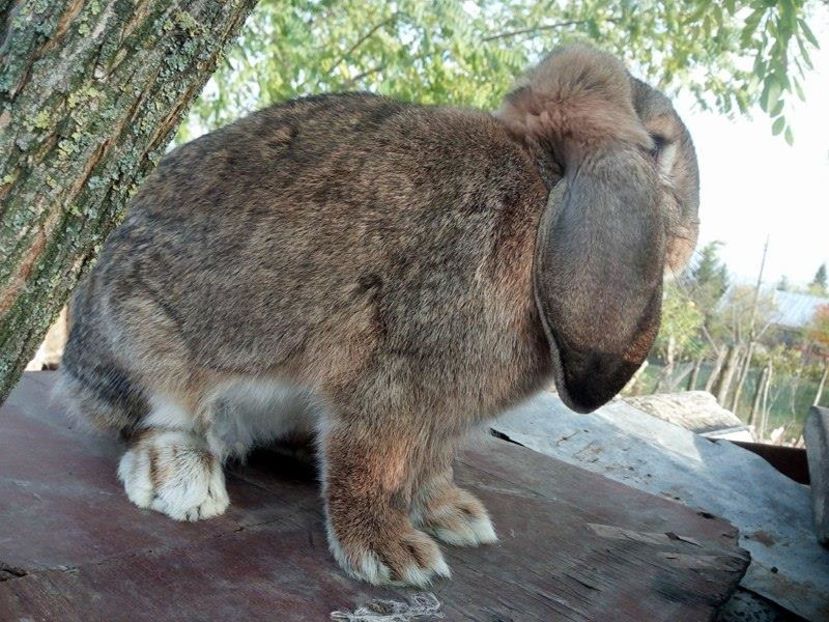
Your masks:
[[[220,461],[188,432],[151,431],[121,458],[127,497],[176,520],[222,514],[230,503]]]

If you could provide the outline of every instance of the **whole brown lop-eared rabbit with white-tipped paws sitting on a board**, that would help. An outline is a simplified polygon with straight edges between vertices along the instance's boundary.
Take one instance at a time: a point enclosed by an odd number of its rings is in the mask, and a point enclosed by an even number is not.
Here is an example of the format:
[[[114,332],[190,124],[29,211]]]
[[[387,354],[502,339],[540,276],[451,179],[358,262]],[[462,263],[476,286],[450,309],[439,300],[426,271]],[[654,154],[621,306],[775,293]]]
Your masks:
[[[313,438],[330,550],[424,586],[497,540],[467,433],[554,381],[579,412],[646,357],[696,240],[694,147],[615,57],[559,48],[495,112],[367,93],[171,151],[79,286],[71,410],[126,439],[127,496],[223,513],[223,462]]]

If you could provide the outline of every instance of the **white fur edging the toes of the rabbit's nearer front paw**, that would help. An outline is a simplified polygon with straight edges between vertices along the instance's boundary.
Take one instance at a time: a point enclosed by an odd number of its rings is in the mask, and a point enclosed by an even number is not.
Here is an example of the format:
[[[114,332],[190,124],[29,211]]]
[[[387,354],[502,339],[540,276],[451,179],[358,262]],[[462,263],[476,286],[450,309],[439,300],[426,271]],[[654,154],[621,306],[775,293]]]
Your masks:
[[[420,534],[424,538],[425,534]],[[415,559],[406,566],[399,573],[398,577],[394,576],[394,572],[388,567],[380,557],[371,550],[363,550],[358,554],[348,555],[343,550],[336,535],[328,524],[328,544],[334,559],[340,567],[349,576],[367,581],[372,585],[395,585],[395,586],[415,586],[427,587],[431,585],[432,581],[437,577],[448,579],[452,576],[449,570],[449,564],[443,558],[443,553],[432,542],[431,560],[425,567],[420,566]]]

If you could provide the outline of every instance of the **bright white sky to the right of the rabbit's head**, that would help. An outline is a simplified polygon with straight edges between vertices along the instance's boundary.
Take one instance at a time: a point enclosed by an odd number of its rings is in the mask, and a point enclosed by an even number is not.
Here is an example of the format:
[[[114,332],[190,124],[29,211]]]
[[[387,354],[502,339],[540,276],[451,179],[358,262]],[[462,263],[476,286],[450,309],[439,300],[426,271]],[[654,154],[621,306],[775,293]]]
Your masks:
[[[765,283],[785,275],[806,285],[829,264],[829,26],[813,20],[822,49],[787,118],[789,146],[772,136],[759,109],[752,119],[702,112],[690,97],[674,105],[691,131],[700,166],[700,244],[721,240],[720,255],[738,282],[755,282],[769,237]],[[820,26],[822,24],[822,27]]]

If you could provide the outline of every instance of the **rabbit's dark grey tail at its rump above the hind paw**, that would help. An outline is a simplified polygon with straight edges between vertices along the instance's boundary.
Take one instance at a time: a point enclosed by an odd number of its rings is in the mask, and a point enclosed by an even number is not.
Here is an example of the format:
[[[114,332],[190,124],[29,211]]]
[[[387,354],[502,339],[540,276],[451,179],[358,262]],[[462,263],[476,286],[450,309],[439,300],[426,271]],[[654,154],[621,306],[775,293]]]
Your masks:
[[[96,428],[130,436],[149,413],[141,387],[116,365],[64,355],[56,394],[69,414]]]

